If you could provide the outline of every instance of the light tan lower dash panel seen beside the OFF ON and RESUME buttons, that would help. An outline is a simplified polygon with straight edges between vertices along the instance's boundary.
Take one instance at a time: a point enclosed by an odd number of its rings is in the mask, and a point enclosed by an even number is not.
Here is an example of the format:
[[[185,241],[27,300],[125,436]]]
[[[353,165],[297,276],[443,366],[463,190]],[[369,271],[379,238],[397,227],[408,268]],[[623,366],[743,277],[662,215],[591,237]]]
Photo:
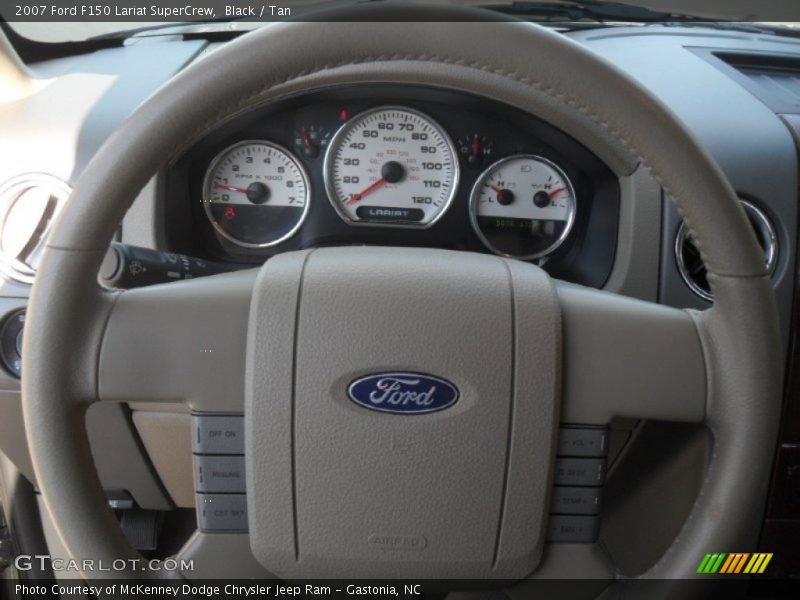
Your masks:
[[[132,418],[172,501],[181,508],[194,508],[191,416],[136,411]]]

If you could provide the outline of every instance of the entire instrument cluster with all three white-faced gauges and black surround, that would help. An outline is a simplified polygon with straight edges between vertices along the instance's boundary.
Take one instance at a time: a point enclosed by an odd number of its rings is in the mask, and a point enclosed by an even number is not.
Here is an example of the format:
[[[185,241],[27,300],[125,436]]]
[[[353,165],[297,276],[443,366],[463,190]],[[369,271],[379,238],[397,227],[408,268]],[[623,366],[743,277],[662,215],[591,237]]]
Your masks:
[[[574,139],[417,86],[328,89],[222,123],[173,163],[165,198],[169,246],[208,260],[424,246],[513,256],[593,287],[619,222],[617,178]]]

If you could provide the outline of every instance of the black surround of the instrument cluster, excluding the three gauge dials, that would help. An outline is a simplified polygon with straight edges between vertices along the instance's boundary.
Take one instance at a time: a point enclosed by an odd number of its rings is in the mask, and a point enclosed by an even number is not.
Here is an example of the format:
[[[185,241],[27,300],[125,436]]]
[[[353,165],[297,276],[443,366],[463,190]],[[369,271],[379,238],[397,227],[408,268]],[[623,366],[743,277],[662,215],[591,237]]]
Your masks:
[[[492,156],[478,167],[461,161],[461,177],[447,212],[429,229],[353,227],[331,205],[324,184],[324,150],[304,157],[294,148],[295,132],[314,125],[331,134],[340,115],[353,117],[382,105],[407,106],[433,118],[453,140],[473,133],[492,144]],[[239,140],[267,140],[295,153],[305,167],[310,207],[303,226],[269,248],[243,248],[221,238],[202,204],[205,171],[216,154]],[[551,275],[602,287],[614,261],[619,226],[619,184],[591,151],[543,120],[517,108],[468,93],[423,86],[354,85],[284,98],[221,124],[192,145],[168,169],[165,178],[164,233],[167,247],[236,266],[258,265],[275,254],[317,246],[382,245],[446,248],[481,253],[491,250],[475,234],[469,216],[470,191],[495,160],[512,154],[536,154],[557,164],[576,192],[577,213],[569,238],[544,261]]]

